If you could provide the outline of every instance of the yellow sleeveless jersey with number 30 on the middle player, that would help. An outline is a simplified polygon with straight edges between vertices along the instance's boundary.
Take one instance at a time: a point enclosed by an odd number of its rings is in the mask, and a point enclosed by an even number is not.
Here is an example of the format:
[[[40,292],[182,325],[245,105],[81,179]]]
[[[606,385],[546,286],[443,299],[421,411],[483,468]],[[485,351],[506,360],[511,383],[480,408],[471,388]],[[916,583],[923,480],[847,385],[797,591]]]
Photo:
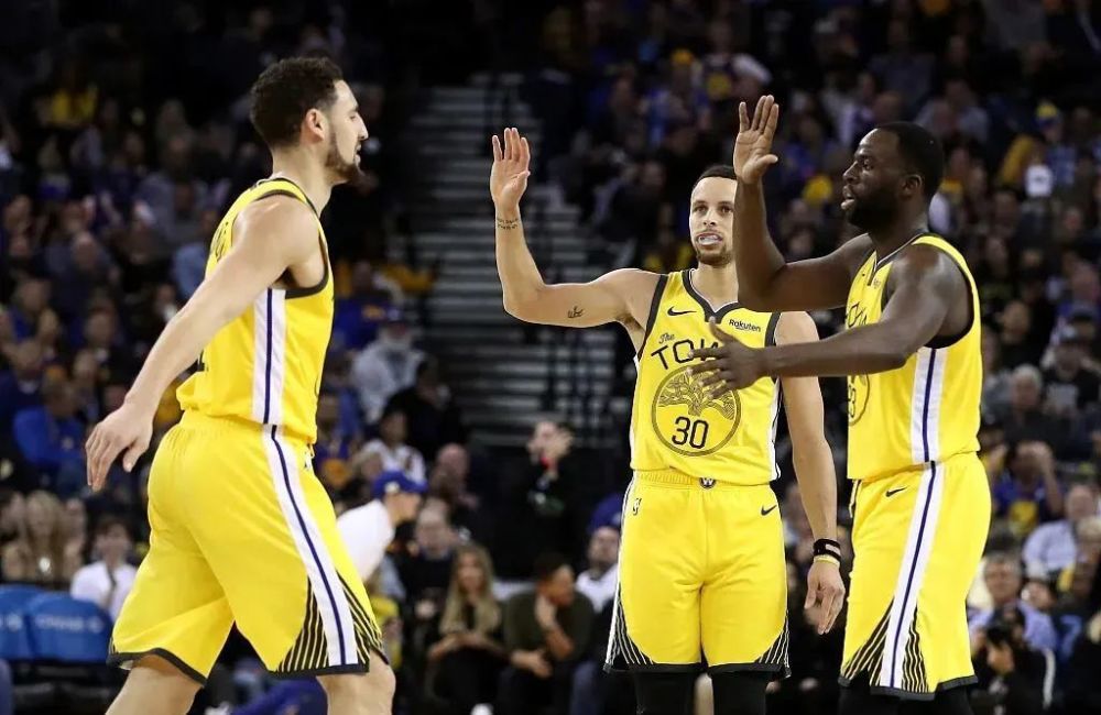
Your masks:
[[[688,369],[697,348],[717,344],[708,318],[746,345],[774,344],[780,314],[753,312],[737,302],[715,311],[693,287],[691,271],[658,278],[631,416],[631,468],[677,470],[690,476],[753,485],[776,475],[774,436],[780,385],[771,377],[710,397]]]

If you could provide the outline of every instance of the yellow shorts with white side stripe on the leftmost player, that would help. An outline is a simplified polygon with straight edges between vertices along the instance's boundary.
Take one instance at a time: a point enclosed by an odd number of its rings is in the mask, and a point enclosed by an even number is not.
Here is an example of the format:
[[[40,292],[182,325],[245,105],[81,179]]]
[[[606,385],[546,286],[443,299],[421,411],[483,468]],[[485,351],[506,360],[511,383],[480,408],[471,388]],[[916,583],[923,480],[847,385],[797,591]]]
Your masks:
[[[150,551],[108,661],[205,682],[230,627],[276,676],[367,672],[382,639],[305,443],[187,413],[149,479]]]

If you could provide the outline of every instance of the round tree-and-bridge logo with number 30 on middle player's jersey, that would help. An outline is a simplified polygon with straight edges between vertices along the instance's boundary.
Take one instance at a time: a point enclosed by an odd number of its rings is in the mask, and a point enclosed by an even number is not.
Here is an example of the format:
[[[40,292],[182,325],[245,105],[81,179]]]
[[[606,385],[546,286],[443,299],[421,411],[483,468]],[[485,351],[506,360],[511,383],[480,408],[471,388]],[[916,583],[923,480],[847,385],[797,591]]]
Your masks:
[[[738,392],[711,395],[689,365],[671,371],[657,387],[651,409],[654,432],[667,448],[685,457],[722,449],[738,430],[742,404]]]

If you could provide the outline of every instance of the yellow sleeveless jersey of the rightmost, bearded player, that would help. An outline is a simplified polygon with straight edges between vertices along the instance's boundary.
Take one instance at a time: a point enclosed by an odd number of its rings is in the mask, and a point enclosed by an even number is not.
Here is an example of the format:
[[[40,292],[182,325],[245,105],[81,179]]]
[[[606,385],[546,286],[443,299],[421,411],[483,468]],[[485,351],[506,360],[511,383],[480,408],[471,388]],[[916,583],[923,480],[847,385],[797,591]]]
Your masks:
[[[948,254],[971,292],[971,323],[962,336],[937,338],[897,370],[849,376],[849,479],[871,480],[922,469],[979,449],[982,394],[979,292],[963,256],[942,238],[919,234],[891,255],[873,252],[849,288],[846,327],[873,323],[885,302],[892,261],[924,243]]]

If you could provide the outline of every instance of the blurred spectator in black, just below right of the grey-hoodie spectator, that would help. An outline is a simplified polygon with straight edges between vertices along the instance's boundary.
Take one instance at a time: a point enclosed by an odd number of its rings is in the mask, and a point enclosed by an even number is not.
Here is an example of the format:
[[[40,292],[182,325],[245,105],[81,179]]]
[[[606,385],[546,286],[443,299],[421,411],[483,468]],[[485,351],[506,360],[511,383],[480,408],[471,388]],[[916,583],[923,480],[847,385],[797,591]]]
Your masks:
[[[428,355],[417,365],[412,387],[400,391],[388,404],[410,418],[410,444],[422,454],[435,454],[448,442],[466,442],[459,407],[440,381],[439,361]]]

